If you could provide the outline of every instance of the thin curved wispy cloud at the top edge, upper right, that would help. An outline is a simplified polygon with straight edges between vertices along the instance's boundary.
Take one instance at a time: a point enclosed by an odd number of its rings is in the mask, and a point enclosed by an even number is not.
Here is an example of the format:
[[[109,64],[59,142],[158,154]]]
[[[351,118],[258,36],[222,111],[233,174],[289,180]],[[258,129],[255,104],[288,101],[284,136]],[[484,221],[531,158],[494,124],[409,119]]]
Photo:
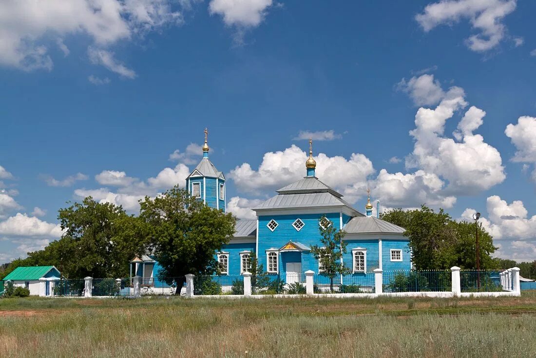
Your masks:
[[[479,33],[469,36],[466,45],[475,52],[496,47],[507,32],[502,23],[516,9],[516,0],[442,0],[426,6],[415,20],[425,32],[439,25],[451,25],[468,19]]]

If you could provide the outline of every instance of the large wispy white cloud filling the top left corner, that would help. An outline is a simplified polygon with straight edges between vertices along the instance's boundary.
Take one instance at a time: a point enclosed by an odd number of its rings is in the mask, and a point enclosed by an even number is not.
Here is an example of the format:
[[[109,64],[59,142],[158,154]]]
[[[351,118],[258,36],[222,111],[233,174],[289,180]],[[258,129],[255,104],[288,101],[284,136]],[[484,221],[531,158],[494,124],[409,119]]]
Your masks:
[[[174,4],[170,0],[0,2],[0,65],[24,71],[50,71],[50,43],[67,56],[70,51],[65,39],[84,35],[96,63],[132,78],[133,70],[114,60],[109,48],[141,39],[147,32],[166,25],[182,24],[182,14],[174,9]]]

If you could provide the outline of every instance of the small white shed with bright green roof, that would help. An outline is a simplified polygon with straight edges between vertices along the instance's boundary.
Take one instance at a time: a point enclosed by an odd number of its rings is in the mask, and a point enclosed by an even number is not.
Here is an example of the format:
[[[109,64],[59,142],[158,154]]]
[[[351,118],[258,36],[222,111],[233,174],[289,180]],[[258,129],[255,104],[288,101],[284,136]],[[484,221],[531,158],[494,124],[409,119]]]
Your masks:
[[[5,276],[4,282],[11,281],[15,287],[25,287],[32,296],[53,296],[54,281],[60,277],[54,266],[20,266]]]

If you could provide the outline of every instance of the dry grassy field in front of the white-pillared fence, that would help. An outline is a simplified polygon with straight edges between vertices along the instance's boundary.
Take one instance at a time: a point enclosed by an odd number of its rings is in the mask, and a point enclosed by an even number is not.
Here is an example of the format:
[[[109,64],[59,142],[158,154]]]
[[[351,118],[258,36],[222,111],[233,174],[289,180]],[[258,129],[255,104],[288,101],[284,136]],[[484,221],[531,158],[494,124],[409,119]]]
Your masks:
[[[0,299],[0,357],[534,357],[500,298]]]

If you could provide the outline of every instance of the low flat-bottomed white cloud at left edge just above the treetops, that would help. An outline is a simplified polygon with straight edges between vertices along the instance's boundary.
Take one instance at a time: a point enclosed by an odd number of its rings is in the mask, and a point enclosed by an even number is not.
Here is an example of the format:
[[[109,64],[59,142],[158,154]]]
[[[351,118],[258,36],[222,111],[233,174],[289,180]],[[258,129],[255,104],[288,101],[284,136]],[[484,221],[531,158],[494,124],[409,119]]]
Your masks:
[[[59,238],[62,235],[62,230],[59,224],[47,223],[36,217],[17,213],[17,215],[0,222],[0,235]]]

